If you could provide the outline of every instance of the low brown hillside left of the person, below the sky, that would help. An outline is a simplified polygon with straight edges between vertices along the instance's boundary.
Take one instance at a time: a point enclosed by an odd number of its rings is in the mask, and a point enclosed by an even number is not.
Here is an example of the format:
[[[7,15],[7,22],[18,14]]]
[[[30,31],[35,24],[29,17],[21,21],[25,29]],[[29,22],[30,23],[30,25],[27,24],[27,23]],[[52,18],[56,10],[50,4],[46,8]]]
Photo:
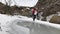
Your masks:
[[[29,16],[29,11],[26,9],[27,7],[17,7],[17,6],[7,6],[0,2],[0,13],[1,14],[8,14],[8,15],[14,15],[14,14],[20,14],[23,16]]]

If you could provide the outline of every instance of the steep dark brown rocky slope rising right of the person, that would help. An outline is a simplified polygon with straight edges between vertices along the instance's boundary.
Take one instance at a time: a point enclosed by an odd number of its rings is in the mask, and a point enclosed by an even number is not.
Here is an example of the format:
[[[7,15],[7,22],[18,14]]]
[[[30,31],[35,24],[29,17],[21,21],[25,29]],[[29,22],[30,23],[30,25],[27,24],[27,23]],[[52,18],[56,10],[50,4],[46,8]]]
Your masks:
[[[56,14],[60,11],[60,1],[59,0],[39,0],[36,6],[39,11],[42,11],[43,17],[47,17],[51,14]]]

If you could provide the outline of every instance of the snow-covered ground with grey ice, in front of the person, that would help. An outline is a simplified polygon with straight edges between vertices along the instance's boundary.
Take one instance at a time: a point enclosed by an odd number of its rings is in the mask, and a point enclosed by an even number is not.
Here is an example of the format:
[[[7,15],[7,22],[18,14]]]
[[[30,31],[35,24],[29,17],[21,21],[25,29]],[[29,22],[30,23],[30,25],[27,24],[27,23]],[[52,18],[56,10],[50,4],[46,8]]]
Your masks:
[[[0,14],[0,34],[60,34],[60,24],[35,20],[20,15]]]

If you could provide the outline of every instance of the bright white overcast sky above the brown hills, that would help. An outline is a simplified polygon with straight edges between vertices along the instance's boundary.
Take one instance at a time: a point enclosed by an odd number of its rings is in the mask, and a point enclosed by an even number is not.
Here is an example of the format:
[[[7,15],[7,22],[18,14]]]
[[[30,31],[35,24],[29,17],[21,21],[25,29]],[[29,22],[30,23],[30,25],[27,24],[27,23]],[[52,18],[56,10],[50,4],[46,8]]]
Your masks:
[[[9,0],[7,0],[7,2],[8,1]],[[5,0],[0,0],[0,2],[2,2],[3,4],[6,4]],[[20,7],[20,6],[34,7],[37,4],[37,2],[38,2],[38,0],[11,0],[10,6],[17,5],[18,7]]]

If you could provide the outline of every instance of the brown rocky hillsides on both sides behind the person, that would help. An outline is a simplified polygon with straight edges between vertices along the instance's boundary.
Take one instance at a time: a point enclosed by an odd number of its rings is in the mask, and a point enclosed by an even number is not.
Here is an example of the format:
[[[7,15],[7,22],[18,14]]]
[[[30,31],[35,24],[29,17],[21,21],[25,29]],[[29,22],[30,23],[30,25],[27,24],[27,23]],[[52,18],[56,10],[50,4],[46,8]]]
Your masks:
[[[34,7],[38,8],[39,13],[43,12],[42,16],[44,18],[42,20],[46,21],[47,16],[50,16],[52,14],[57,14],[58,12],[60,12],[60,0],[39,0]],[[1,14],[23,15],[23,16],[31,17],[31,9],[32,7],[24,7],[24,6],[17,7],[16,5],[8,6],[0,2]]]

